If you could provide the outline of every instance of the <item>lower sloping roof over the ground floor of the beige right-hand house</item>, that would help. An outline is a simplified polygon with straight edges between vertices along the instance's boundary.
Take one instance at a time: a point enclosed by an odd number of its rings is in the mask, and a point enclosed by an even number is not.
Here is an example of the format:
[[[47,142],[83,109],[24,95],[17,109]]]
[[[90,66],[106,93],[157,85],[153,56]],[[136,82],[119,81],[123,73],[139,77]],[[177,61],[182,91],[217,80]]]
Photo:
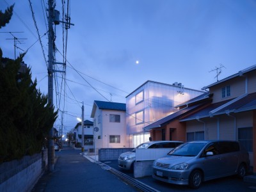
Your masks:
[[[180,120],[180,122],[188,120],[196,120],[205,117],[211,117],[221,114],[239,113],[242,111],[252,111],[256,109],[256,93],[243,95],[243,97],[237,97],[236,99],[225,100],[211,104],[204,109],[189,115],[186,118]]]

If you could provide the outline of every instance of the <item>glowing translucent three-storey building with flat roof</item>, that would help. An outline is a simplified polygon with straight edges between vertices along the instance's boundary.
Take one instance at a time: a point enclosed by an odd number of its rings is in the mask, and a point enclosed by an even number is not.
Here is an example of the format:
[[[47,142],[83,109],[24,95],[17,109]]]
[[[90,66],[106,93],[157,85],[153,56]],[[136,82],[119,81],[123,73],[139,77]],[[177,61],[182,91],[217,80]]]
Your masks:
[[[165,116],[175,113],[175,106],[205,92],[185,88],[181,83],[147,81],[126,97],[127,147],[136,147],[150,140],[146,127]]]

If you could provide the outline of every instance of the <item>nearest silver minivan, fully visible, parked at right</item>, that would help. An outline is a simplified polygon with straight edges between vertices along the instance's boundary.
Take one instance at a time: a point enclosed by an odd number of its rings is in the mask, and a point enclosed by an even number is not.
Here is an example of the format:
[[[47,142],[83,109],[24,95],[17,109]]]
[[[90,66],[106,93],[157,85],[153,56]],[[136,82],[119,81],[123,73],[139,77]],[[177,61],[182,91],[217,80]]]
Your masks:
[[[244,177],[249,166],[249,154],[237,141],[191,141],[154,161],[152,177],[197,189],[206,180]]]

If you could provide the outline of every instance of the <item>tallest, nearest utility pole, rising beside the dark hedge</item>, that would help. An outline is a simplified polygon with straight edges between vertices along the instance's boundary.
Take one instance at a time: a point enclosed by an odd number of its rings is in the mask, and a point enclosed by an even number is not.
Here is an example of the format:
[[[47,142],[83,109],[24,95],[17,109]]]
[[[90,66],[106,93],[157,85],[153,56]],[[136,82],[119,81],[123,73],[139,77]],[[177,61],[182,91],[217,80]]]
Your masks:
[[[54,8],[53,0],[48,0],[48,104],[53,106],[53,41],[54,41],[54,32],[53,32],[53,19],[54,19]],[[48,137],[48,171],[52,172],[54,170],[54,147],[53,147],[53,127],[49,131]]]

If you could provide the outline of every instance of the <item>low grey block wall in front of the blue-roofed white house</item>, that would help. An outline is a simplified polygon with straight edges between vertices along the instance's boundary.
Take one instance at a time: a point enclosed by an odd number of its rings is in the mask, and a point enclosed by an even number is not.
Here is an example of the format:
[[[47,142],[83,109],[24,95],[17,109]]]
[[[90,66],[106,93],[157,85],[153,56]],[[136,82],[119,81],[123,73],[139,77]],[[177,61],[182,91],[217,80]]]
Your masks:
[[[120,154],[129,152],[133,148],[100,148],[99,161],[117,160]]]

